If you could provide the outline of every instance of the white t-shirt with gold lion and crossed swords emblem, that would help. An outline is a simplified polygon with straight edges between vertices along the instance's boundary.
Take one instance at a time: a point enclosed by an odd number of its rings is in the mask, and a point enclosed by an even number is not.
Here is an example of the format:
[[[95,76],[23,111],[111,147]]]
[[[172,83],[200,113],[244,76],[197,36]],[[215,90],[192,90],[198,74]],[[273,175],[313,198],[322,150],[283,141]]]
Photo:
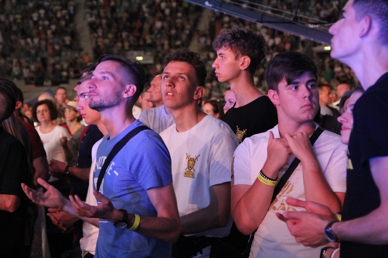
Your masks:
[[[209,188],[231,180],[236,136],[230,127],[207,115],[197,125],[179,133],[175,125],[164,130],[162,136],[171,156],[172,180],[180,216],[205,208],[210,203]],[[196,236],[225,237],[227,226],[194,234]]]

